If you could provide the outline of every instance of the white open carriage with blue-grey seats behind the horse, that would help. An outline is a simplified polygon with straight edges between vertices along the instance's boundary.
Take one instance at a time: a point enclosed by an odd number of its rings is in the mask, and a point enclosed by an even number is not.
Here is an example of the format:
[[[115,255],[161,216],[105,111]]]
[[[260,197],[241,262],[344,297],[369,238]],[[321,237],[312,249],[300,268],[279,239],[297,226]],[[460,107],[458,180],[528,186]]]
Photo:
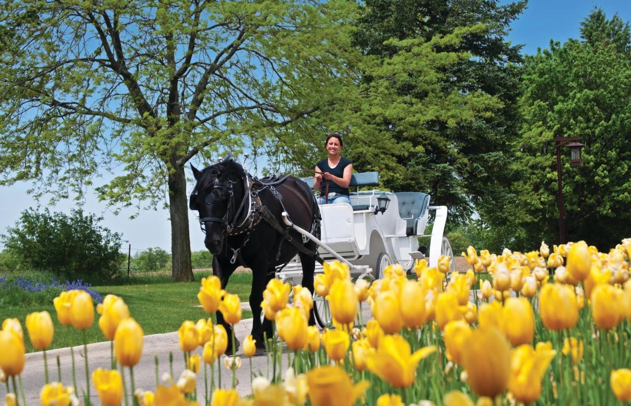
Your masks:
[[[309,186],[313,184],[313,178],[303,180]],[[322,259],[337,259],[346,263],[353,278],[381,278],[384,268],[392,263],[398,263],[410,272],[415,260],[426,258],[427,254],[430,266],[438,265],[441,254],[450,256],[453,271],[454,255],[449,239],[444,236],[447,206],[430,206],[430,195],[421,192],[359,191],[360,187],[377,184],[378,172],[353,174],[349,188],[357,188],[357,191],[350,194],[351,205],[320,205],[321,239],[291,224],[286,217],[285,222],[314,240]],[[379,210],[380,203],[382,210]],[[426,235],[430,218],[433,218],[432,232]],[[430,237],[428,253],[424,249],[419,250],[420,237]],[[315,272],[322,272],[318,263]],[[283,282],[300,284],[302,269],[298,258],[290,261],[276,277]],[[321,298],[314,297],[316,316],[320,316],[317,317],[318,322],[324,326],[329,320],[322,314],[321,304]]]

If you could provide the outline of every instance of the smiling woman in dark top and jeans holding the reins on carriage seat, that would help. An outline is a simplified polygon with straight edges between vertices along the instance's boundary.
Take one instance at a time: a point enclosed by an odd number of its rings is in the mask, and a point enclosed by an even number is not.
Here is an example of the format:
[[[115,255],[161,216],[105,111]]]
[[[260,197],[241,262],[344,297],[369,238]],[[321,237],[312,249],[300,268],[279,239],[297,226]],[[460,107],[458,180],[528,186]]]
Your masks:
[[[348,185],[353,175],[353,162],[339,155],[342,146],[341,135],[338,133],[327,135],[326,151],[329,157],[315,164],[314,190],[321,191],[319,201],[321,205],[325,203],[351,204],[348,197]]]

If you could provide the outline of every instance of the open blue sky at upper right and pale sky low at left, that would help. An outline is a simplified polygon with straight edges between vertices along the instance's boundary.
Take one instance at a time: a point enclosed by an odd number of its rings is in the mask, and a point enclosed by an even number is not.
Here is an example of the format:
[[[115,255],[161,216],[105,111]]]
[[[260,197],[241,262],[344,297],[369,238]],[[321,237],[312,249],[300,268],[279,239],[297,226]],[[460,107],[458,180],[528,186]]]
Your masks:
[[[570,37],[578,38],[579,23],[594,6],[602,8],[608,18],[618,12],[623,21],[631,20],[631,0],[531,0],[528,9],[512,23],[512,31],[507,38],[514,44],[524,44],[522,51],[526,54],[534,54],[537,48],[547,48],[550,39],[565,42]],[[189,189],[191,188],[192,184],[189,184]],[[28,184],[25,182],[13,186],[0,186],[0,234],[15,224],[22,210],[29,206],[37,206],[37,202],[28,196],[27,189]],[[47,200],[43,199],[41,203],[44,206]],[[69,212],[73,207],[73,201],[62,201],[50,207],[50,210]],[[122,210],[119,215],[114,215],[111,210],[107,210],[104,203],[99,203],[92,193],[86,196],[84,209],[103,215],[105,220],[102,224],[112,231],[120,232],[131,244],[133,252],[149,247],[170,250],[171,234],[167,210],[143,211],[137,218],[130,220],[129,216],[136,213],[134,210]],[[189,212],[189,224],[191,248],[194,251],[204,249],[203,234],[192,212]],[[1,245],[0,243],[0,249]],[[123,248],[126,251],[127,244]]]

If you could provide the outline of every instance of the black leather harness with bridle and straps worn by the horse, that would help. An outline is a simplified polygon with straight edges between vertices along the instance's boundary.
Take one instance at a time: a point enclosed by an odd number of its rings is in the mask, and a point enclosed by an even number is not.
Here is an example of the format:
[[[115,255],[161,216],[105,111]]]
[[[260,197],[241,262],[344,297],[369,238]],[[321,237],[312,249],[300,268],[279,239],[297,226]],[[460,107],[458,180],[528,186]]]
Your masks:
[[[256,225],[259,224],[259,222],[261,222],[261,219],[265,220],[269,225],[271,225],[271,227],[273,227],[273,229],[275,229],[281,234],[282,239],[280,241],[280,244],[278,244],[278,253],[276,254],[276,261],[278,261],[278,259],[280,258],[283,241],[288,241],[290,242],[290,244],[292,244],[292,246],[297,248],[299,251],[302,251],[302,253],[308,254],[311,257],[315,257],[315,259],[319,261],[319,263],[324,262],[324,260],[322,260],[322,258],[317,254],[317,250],[310,251],[309,249],[305,248],[303,244],[305,244],[308,241],[307,237],[302,236],[302,244],[299,244],[298,242],[293,241],[292,236],[289,235],[289,231],[291,227],[288,227],[288,226],[283,227],[283,225],[281,225],[280,222],[278,222],[278,220],[276,220],[274,215],[269,211],[269,208],[262,204],[259,193],[261,193],[265,189],[269,189],[272,195],[280,203],[281,207],[283,208],[283,212],[286,212],[285,205],[283,204],[283,196],[281,196],[281,194],[278,192],[278,190],[276,190],[276,188],[274,188],[274,186],[278,186],[279,184],[282,184],[283,182],[285,182],[285,180],[288,177],[289,175],[285,175],[281,177],[267,177],[263,179],[256,179],[256,178],[251,177],[249,174],[246,174],[245,182],[244,182],[245,183],[244,197],[242,198],[239,208],[235,212],[232,218],[232,221],[228,220],[228,216],[230,215],[230,208],[235,206],[234,189],[233,189],[234,182],[228,181],[225,183],[215,183],[214,188],[224,188],[228,190],[228,196],[230,196],[230,200],[228,201],[228,208],[226,210],[225,215],[223,215],[223,217],[221,218],[220,217],[199,218],[199,227],[204,233],[206,233],[206,229],[204,228],[205,222],[219,222],[225,225],[225,228],[223,229],[223,233],[227,234],[227,236],[238,236],[240,234],[245,234],[245,238],[243,242],[240,244],[239,248],[236,248],[236,249],[230,248],[232,249],[232,252],[233,252],[232,258],[230,258],[231,264],[239,260],[239,262],[242,265],[245,265],[244,260],[240,254],[240,251],[250,241],[250,236],[252,234],[252,231],[254,230],[254,227],[256,227]],[[213,203],[215,203],[214,196],[212,193],[206,194],[204,200],[206,202],[206,205],[212,205]],[[199,207],[197,206],[197,204],[192,203],[193,201],[194,201],[194,198],[192,195],[191,204],[190,204],[191,209],[199,210]],[[244,209],[246,201],[249,201],[249,210],[247,213],[244,212],[245,217],[242,220],[242,222],[240,222],[239,225],[236,225],[239,219],[239,216],[242,210]],[[317,204],[315,203],[315,200],[314,200],[314,204]],[[315,213],[317,212],[314,210],[314,221],[312,222],[311,229],[310,229],[311,234],[313,234],[314,230],[317,227],[317,224],[319,224],[321,220],[321,218],[319,218],[319,216],[316,216]],[[225,244],[225,246],[227,249],[228,244]],[[281,265],[280,269],[285,267],[285,265],[286,263]],[[278,269],[276,270],[276,272],[278,272]]]

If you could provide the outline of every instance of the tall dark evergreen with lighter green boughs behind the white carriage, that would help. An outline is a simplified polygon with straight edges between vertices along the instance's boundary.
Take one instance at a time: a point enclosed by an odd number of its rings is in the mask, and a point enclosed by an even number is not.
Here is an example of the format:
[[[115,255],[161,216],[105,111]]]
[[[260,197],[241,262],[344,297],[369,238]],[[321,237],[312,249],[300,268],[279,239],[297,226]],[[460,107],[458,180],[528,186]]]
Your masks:
[[[372,107],[363,118],[375,127],[368,138],[376,133],[388,148],[358,150],[356,166],[381,163],[384,186],[427,191],[433,201],[449,206],[452,222],[464,222],[474,211],[492,215],[514,179],[503,162],[517,138],[519,118],[521,46],[504,37],[526,1],[364,4],[355,35],[364,54],[392,66],[401,45],[416,41],[432,44],[434,55],[408,51],[399,59],[400,68],[392,75],[400,83],[382,83],[391,86],[398,102],[367,98]],[[421,57],[428,69],[418,75],[406,72],[406,65],[421,64],[416,61]],[[366,72],[362,80],[369,87],[383,79]],[[405,107],[406,102],[413,108]]]

